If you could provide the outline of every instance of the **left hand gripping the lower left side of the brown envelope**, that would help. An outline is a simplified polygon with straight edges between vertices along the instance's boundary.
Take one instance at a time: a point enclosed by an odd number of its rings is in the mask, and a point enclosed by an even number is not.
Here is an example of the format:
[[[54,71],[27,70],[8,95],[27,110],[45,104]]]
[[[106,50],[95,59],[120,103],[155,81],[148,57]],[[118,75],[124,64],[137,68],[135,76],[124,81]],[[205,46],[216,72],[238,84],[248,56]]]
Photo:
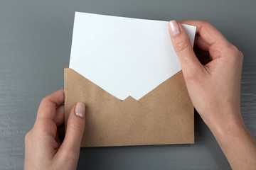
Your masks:
[[[76,169],[85,128],[85,104],[70,112],[64,137],[64,91],[46,96],[36,123],[25,137],[24,169]]]

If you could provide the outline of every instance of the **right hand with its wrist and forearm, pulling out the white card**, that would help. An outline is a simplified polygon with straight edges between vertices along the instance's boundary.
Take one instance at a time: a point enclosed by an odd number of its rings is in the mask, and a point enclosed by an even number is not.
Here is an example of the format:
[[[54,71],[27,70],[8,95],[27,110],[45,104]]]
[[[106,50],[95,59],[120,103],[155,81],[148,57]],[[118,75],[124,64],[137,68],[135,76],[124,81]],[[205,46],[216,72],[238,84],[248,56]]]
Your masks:
[[[195,48],[181,23],[196,26]],[[233,169],[256,167],[256,142],[240,114],[242,52],[207,21],[170,21],[169,33],[181,62],[193,106],[213,132]]]

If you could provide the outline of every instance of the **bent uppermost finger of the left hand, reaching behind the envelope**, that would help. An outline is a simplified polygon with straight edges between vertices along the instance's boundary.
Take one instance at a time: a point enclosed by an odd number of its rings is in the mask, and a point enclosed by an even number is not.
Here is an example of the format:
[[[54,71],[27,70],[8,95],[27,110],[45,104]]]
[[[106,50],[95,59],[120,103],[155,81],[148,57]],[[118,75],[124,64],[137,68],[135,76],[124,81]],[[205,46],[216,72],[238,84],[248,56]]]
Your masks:
[[[60,89],[55,91],[43,98],[38,108],[38,115],[36,121],[38,120],[53,120],[55,118],[56,107],[64,103],[64,90]]]

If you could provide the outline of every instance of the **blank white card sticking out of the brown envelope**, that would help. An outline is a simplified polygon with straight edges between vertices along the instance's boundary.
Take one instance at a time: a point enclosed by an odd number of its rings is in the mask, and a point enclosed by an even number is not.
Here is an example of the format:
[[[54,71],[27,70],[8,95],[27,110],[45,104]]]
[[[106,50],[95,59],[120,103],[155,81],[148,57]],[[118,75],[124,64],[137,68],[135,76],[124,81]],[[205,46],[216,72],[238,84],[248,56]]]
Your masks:
[[[139,100],[181,70],[167,23],[75,12],[70,68],[120,100]],[[196,27],[183,27],[193,45]]]

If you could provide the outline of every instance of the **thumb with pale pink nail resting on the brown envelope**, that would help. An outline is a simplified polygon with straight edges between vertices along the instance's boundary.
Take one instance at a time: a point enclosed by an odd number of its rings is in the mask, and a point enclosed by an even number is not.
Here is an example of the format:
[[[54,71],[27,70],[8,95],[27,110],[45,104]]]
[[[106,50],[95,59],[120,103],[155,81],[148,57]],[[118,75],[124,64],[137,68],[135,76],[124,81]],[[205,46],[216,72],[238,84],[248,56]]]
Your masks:
[[[67,129],[63,144],[60,146],[60,154],[73,154],[79,156],[82,135],[85,130],[85,104],[77,103],[68,117]]]

